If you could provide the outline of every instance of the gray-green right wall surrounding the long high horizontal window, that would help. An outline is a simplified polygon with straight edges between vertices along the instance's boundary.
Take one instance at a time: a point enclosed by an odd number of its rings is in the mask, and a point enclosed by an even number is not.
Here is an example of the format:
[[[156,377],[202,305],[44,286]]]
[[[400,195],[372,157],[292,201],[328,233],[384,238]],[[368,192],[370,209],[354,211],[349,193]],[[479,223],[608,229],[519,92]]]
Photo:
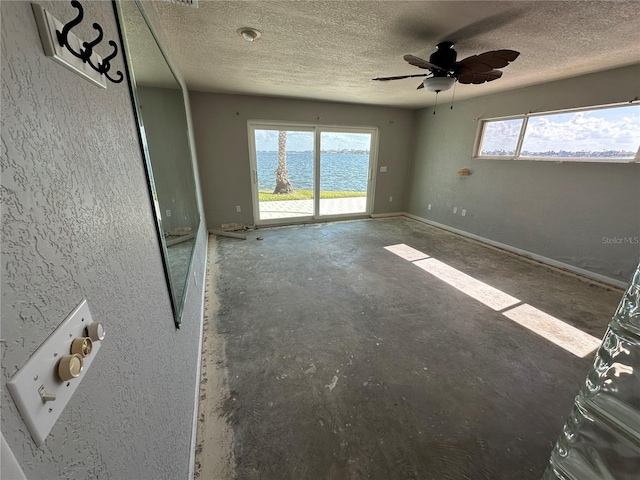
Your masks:
[[[640,95],[638,78],[636,65],[442,106],[436,115],[420,110],[406,211],[627,282],[640,245],[602,238],[640,235],[640,165],[471,156],[478,119],[629,101]],[[463,167],[473,174],[457,177]]]

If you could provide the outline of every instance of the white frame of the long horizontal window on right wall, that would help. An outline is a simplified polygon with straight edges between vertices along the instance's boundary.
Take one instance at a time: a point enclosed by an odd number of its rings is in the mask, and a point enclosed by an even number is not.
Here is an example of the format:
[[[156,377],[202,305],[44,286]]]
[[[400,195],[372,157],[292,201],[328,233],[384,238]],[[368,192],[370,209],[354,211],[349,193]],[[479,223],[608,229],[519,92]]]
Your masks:
[[[628,107],[631,105],[638,105],[637,101],[614,103],[607,105],[597,105],[588,107],[569,108],[561,110],[549,110],[545,112],[529,112],[518,115],[507,115],[502,117],[487,117],[478,119],[478,128],[476,131],[475,142],[473,145],[473,160],[518,160],[518,161],[535,161],[535,162],[555,162],[555,163],[640,163],[640,144],[636,150],[634,158],[619,158],[619,157],[523,157],[522,144],[524,143],[524,137],[526,134],[527,126],[530,118],[550,116],[556,114],[565,114],[573,112],[585,112],[585,111],[597,111],[619,107]],[[522,119],[522,125],[520,126],[520,134],[516,143],[515,153],[513,155],[481,155],[482,144],[484,143],[484,135],[486,131],[486,125],[490,122],[506,121],[506,120],[518,120]]]

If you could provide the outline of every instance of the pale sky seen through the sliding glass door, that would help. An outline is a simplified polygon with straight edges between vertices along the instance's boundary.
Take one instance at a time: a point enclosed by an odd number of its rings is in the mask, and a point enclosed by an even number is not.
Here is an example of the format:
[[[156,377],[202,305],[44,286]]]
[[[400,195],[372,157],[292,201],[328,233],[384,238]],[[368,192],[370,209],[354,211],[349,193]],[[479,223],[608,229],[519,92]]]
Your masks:
[[[256,130],[256,150],[278,150],[278,130]],[[287,151],[312,151],[313,132],[287,132]],[[370,150],[371,135],[368,133],[321,132],[323,150]]]

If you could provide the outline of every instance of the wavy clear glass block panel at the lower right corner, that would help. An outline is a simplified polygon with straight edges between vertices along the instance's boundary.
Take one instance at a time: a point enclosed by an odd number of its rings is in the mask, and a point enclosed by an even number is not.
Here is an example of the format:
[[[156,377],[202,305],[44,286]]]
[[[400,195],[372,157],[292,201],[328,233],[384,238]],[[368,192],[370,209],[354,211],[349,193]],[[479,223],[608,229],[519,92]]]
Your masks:
[[[640,265],[609,324],[544,480],[640,474]]]

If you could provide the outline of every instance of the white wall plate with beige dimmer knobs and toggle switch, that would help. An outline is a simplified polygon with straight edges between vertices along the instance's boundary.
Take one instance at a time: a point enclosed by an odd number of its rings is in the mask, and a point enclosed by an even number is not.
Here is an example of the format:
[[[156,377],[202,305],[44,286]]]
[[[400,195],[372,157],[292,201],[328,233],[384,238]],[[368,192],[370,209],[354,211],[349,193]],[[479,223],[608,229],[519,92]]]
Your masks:
[[[91,367],[103,338],[102,325],[93,322],[83,300],[7,382],[38,447]],[[80,427],[70,426],[72,430]]]

